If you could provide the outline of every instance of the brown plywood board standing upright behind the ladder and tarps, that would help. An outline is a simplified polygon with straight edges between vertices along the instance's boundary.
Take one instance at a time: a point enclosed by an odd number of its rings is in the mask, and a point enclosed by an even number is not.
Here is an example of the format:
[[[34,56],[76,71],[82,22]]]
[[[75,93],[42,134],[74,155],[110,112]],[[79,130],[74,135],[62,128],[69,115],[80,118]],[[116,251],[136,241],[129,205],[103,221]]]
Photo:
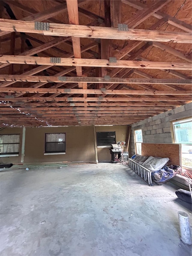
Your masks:
[[[171,164],[181,166],[181,144],[141,143],[141,155],[168,157]]]

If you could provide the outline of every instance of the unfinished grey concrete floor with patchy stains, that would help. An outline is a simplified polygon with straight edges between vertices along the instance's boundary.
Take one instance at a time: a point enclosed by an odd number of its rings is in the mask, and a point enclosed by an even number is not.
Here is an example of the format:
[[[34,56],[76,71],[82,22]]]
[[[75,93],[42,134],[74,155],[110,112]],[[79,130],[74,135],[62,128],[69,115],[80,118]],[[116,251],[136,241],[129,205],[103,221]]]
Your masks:
[[[6,170],[0,255],[191,255],[171,184],[149,187],[122,164]],[[191,216],[191,215],[190,215]]]

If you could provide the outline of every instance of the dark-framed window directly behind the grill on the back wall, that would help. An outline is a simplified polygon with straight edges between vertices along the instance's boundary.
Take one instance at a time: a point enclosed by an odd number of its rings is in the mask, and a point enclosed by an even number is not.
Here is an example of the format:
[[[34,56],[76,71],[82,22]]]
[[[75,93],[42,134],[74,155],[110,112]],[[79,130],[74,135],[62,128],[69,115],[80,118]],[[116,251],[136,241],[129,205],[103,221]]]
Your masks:
[[[116,144],[115,131],[98,131],[97,146],[110,146]]]

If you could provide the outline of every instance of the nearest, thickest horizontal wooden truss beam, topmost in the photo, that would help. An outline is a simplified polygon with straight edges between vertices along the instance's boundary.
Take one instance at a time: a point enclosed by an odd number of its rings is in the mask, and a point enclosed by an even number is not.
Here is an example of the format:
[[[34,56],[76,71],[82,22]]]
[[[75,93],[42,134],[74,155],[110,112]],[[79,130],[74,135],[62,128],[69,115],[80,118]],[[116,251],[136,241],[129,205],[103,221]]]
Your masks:
[[[104,38],[120,40],[138,40],[138,41],[160,41],[191,44],[191,34],[182,32],[169,32],[145,29],[128,29],[128,31],[119,31],[117,28],[84,26],[49,23],[49,30],[35,29],[35,22],[0,19],[1,33],[26,32],[37,33],[51,36],[73,36],[78,38]]]

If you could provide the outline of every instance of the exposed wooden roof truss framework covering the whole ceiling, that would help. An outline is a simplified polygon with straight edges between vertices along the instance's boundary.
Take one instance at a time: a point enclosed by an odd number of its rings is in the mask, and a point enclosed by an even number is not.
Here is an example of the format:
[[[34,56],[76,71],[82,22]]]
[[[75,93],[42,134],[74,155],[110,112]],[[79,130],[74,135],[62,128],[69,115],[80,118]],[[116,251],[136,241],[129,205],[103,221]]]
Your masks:
[[[132,124],[191,101],[190,1],[32,2],[2,4],[0,127]]]

